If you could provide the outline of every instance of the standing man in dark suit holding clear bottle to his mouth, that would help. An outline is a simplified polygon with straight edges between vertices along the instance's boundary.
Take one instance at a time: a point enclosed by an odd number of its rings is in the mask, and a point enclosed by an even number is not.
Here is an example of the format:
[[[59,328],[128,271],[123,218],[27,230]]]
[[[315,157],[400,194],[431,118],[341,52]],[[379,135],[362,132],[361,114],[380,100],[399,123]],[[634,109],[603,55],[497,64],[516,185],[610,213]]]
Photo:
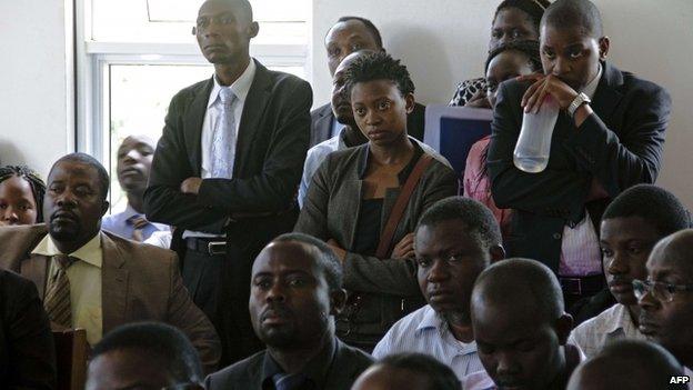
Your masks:
[[[506,248],[558,273],[566,307],[604,287],[597,223],[611,199],[655,180],[670,118],[666,91],[606,62],[609,46],[593,3],[555,1],[541,23],[545,74],[502,83],[494,110],[492,193],[516,210]],[[549,166],[528,173],[513,164],[513,149],[523,112],[549,96],[561,108]]]

